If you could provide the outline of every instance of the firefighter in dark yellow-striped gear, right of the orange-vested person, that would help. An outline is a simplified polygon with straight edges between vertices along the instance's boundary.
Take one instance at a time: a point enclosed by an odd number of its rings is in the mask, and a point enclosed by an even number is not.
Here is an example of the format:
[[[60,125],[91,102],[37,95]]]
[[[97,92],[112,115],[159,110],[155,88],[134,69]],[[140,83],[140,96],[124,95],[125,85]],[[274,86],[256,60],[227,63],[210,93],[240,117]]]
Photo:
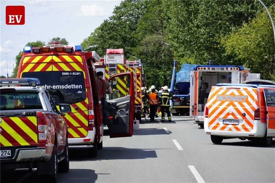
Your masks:
[[[161,121],[163,122],[165,120],[165,114],[164,112],[167,113],[168,121],[172,122],[171,118],[171,113],[170,113],[170,105],[169,105],[169,100],[172,99],[172,95],[170,92],[168,92],[168,87],[164,86],[163,91],[161,92],[161,96],[159,98],[159,104],[161,107]]]

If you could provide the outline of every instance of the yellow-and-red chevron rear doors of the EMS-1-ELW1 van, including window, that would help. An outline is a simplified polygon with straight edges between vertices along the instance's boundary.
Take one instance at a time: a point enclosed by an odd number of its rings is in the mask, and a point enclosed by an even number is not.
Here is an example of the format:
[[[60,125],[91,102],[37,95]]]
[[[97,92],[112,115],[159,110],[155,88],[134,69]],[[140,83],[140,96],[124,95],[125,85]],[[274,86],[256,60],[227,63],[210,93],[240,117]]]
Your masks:
[[[72,112],[64,116],[68,138],[84,138],[88,134],[88,91],[80,55],[38,55],[24,57],[18,77],[40,80],[55,104],[70,104]]]

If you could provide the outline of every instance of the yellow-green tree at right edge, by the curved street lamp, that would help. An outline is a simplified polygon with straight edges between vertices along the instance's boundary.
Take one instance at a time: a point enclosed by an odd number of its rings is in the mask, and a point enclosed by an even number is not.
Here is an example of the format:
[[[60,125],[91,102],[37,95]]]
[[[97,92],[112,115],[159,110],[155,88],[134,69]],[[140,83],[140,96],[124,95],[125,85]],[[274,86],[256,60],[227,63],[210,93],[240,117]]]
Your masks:
[[[264,9],[263,9],[264,11]],[[272,17],[275,8],[270,8]],[[261,79],[275,80],[274,36],[270,18],[266,11],[258,13],[249,23],[244,23],[230,35],[221,39],[229,63],[244,65],[252,73],[261,73]]]

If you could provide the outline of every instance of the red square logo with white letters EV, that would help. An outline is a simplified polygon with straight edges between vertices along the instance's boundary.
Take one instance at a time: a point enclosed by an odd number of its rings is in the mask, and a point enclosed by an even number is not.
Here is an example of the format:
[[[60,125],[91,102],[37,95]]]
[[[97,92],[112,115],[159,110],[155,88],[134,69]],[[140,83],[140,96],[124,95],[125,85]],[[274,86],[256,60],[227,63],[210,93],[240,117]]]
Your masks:
[[[25,7],[24,6],[6,6],[6,24],[24,25]]]

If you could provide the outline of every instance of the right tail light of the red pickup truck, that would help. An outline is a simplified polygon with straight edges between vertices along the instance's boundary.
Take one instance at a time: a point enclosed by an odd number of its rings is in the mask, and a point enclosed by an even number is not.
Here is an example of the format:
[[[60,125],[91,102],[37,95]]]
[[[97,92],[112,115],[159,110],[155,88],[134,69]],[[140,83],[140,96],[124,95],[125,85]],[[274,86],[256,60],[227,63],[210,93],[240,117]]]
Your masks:
[[[37,117],[37,142],[38,143],[46,143],[47,140],[47,132],[48,132],[48,122],[46,115],[44,112],[37,112],[36,113]]]

